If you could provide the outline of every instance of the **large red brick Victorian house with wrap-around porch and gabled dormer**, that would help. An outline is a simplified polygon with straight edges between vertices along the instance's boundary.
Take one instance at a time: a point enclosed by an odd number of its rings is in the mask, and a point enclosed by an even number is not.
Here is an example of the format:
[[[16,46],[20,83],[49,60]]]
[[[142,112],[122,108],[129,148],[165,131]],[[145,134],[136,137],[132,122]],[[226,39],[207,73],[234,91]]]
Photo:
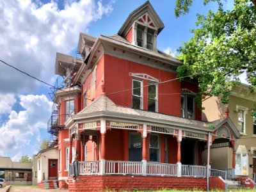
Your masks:
[[[182,62],[157,50],[163,28],[147,1],[117,35],[80,33],[81,59],[57,53],[65,85],[54,92],[49,132],[58,141],[60,188],[206,189],[210,158],[203,162],[202,152],[220,140],[235,147],[228,113],[202,122],[196,82],[175,79]],[[211,177],[209,185],[224,189],[225,181]]]

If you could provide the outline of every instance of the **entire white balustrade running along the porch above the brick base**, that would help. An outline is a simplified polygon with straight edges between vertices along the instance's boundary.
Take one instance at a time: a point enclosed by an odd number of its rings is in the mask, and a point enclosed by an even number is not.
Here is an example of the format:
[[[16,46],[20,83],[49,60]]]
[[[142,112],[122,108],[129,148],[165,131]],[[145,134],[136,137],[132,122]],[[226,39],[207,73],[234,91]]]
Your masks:
[[[78,175],[154,175],[177,177],[177,164],[147,162],[143,172],[143,162],[136,161],[78,161]],[[69,165],[69,175],[74,176],[74,163]],[[103,171],[101,170],[103,169]],[[102,172],[100,172],[100,170]],[[181,177],[206,177],[207,166],[181,165]],[[144,174],[145,173],[145,174]],[[76,174],[77,175],[77,174]]]

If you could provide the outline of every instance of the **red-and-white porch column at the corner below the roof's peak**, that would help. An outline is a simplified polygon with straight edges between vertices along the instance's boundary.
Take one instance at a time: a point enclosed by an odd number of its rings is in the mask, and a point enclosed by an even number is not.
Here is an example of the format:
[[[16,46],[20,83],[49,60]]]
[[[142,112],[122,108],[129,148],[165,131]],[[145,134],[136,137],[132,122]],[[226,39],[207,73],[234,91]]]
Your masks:
[[[105,174],[105,134],[106,134],[106,120],[100,120],[100,134],[101,134],[101,147],[100,147],[100,175]]]

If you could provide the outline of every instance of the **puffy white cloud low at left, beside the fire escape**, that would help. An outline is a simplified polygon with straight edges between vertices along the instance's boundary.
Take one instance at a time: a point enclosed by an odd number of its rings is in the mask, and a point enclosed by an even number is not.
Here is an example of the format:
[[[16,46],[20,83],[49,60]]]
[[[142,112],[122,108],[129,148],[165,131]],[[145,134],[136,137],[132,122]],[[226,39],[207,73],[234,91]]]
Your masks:
[[[39,129],[47,128],[51,116],[50,102],[45,95],[20,95],[20,106],[24,110],[11,111],[9,119],[0,127],[0,148],[4,154],[12,149],[28,148],[31,142],[39,136]]]

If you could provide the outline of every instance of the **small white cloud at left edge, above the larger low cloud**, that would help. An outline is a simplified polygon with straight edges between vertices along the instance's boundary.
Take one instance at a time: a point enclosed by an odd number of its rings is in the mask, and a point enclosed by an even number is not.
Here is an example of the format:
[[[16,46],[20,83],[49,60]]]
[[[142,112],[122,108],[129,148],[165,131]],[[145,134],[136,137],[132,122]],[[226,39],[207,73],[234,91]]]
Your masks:
[[[1,94],[0,93],[0,115],[10,113],[12,106],[15,104],[16,99],[13,94]]]

